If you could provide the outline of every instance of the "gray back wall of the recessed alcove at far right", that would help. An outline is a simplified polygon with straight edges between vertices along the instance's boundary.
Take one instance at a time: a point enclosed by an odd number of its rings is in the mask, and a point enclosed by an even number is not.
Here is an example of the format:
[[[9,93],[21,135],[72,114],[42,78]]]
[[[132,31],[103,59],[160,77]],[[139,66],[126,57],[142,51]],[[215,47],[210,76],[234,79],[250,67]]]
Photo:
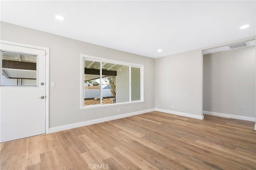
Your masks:
[[[204,55],[204,111],[255,117],[255,46]]]

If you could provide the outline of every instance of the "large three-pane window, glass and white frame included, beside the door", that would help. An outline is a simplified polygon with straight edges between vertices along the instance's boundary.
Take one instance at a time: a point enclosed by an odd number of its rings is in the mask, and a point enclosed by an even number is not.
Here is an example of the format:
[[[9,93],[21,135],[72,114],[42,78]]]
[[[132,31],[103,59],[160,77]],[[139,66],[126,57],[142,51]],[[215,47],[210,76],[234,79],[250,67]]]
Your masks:
[[[81,108],[143,102],[142,64],[81,55]]]

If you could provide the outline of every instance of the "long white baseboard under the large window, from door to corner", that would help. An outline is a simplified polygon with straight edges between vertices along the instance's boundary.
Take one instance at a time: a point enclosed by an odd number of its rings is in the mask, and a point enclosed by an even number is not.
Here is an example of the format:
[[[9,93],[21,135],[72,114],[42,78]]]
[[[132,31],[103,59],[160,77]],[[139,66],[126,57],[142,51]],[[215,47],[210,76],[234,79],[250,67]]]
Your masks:
[[[150,111],[155,111],[155,109],[135,111],[135,112],[132,112],[132,113],[125,113],[125,114],[121,114],[121,115],[103,117],[103,118],[100,118],[100,119],[94,119],[94,120],[89,120],[89,121],[82,121],[82,122],[78,122],[78,123],[72,123],[72,124],[68,124],[68,125],[51,127],[51,128],[49,128],[49,133],[64,131],[64,130],[73,129],[73,128],[76,128],[76,127],[81,127],[81,126],[86,126],[86,125],[92,125],[92,124],[95,124],[95,123],[101,123],[101,122],[104,122],[104,121],[110,121],[110,120],[114,120],[114,119],[120,119],[120,118],[124,118],[124,117],[139,115],[139,114],[142,114],[142,113],[148,113]]]

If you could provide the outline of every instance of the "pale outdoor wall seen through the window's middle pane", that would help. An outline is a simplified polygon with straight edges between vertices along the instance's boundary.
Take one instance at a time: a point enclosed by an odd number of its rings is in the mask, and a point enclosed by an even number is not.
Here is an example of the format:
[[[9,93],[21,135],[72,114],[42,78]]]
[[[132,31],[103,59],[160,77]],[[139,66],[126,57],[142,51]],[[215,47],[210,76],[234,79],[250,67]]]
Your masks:
[[[129,66],[116,71],[116,103],[129,102]]]

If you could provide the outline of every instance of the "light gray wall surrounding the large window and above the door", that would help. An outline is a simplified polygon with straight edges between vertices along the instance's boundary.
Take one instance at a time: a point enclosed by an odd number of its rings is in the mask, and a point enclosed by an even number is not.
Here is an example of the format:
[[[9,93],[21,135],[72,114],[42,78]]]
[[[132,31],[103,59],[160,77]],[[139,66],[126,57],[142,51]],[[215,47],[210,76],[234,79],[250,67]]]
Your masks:
[[[154,59],[1,22],[0,39],[50,48],[50,127],[152,109]],[[80,54],[144,64],[144,103],[80,110]],[[68,80],[68,81],[67,81]],[[117,113],[117,109],[120,112]]]

